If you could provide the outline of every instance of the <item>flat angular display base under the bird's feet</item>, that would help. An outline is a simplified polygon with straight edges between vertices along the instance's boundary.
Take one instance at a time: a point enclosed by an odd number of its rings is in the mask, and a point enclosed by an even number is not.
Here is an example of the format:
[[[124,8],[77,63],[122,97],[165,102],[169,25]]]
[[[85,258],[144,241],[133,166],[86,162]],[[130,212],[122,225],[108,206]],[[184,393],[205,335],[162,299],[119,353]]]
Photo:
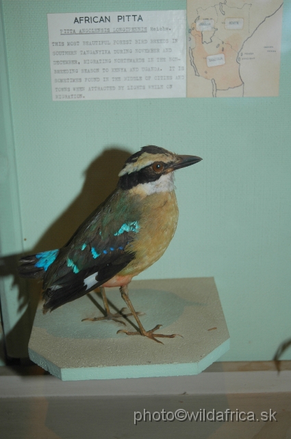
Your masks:
[[[112,312],[125,306],[117,288],[107,288]],[[103,316],[98,292],[70,302],[52,313],[36,312],[29,357],[62,380],[114,379],[196,375],[229,349],[229,333],[214,278],[133,281],[129,297],[144,329],[163,326],[157,333],[181,334],[156,343],[136,331],[133,317],[85,321]],[[126,311],[125,311],[126,312]]]

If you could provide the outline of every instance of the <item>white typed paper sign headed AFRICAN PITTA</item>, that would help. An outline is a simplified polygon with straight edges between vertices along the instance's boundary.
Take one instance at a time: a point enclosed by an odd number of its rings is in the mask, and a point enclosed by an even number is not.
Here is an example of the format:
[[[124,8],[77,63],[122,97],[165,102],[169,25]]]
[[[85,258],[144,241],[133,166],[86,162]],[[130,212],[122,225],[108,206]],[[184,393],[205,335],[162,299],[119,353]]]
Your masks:
[[[186,11],[47,14],[53,101],[186,97]]]

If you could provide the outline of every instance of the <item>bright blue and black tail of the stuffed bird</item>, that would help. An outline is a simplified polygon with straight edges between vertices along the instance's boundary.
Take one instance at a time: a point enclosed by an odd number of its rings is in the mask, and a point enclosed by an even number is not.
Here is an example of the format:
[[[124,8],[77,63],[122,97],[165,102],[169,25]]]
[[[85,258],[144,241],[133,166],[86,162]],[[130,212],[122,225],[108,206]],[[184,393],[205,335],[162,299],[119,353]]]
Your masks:
[[[22,263],[18,267],[18,273],[21,277],[25,278],[43,278],[45,272],[49,268],[49,265],[55,261],[60,250],[49,250],[48,252],[42,252],[37,254],[31,254],[21,258]]]

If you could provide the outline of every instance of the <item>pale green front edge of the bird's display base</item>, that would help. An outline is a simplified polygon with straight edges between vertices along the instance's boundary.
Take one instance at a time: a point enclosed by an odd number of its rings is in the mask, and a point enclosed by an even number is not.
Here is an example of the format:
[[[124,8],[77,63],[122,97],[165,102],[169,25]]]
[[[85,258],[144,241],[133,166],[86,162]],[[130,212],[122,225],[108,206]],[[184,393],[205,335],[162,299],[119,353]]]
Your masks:
[[[225,340],[210,354],[197,363],[185,364],[150,364],[141,366],[108,366],[94,368],[59,368],[29,348],[29,358],[38,366],[62,381],[81,381],[85,379],[120,379],[146,377],[179,377],[198,375],[210,364],[225,354],[230,347],[230,339]]]

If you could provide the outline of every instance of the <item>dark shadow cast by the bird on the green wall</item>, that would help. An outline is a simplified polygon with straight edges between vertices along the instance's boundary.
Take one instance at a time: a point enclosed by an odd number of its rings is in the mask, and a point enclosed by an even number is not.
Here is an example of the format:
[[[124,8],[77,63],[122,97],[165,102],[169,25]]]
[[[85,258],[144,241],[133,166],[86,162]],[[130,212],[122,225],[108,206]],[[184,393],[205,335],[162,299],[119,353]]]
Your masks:
[[[79,195],[45,230],[37,244],[34,248],[30,248],[27,254],[64,246],[84,219],[114,191],[118,182],[118,173],[129,156],[131,156],[131,152],[121,149],[118,145],[108,145],[84,171],[84,185]],[[5,348],[10,357],[14,356],[11,355],[14,353],[12,347],[15,344],[14,340],[18,340],[18,346],[22,346],[21,350],[27,352],[31,327],[41,292],[40,283],[19,278],[17,267],[18,260],[22,255],[12,254],[3,257],[0,263],[0,279],[1,277],[13,276],[11,287],[18,288],[18,311],[21,313],[25,310],[17,324],[9,333],[5,333]],[[3,320],[5,322],[5,317],[2,318]]]

